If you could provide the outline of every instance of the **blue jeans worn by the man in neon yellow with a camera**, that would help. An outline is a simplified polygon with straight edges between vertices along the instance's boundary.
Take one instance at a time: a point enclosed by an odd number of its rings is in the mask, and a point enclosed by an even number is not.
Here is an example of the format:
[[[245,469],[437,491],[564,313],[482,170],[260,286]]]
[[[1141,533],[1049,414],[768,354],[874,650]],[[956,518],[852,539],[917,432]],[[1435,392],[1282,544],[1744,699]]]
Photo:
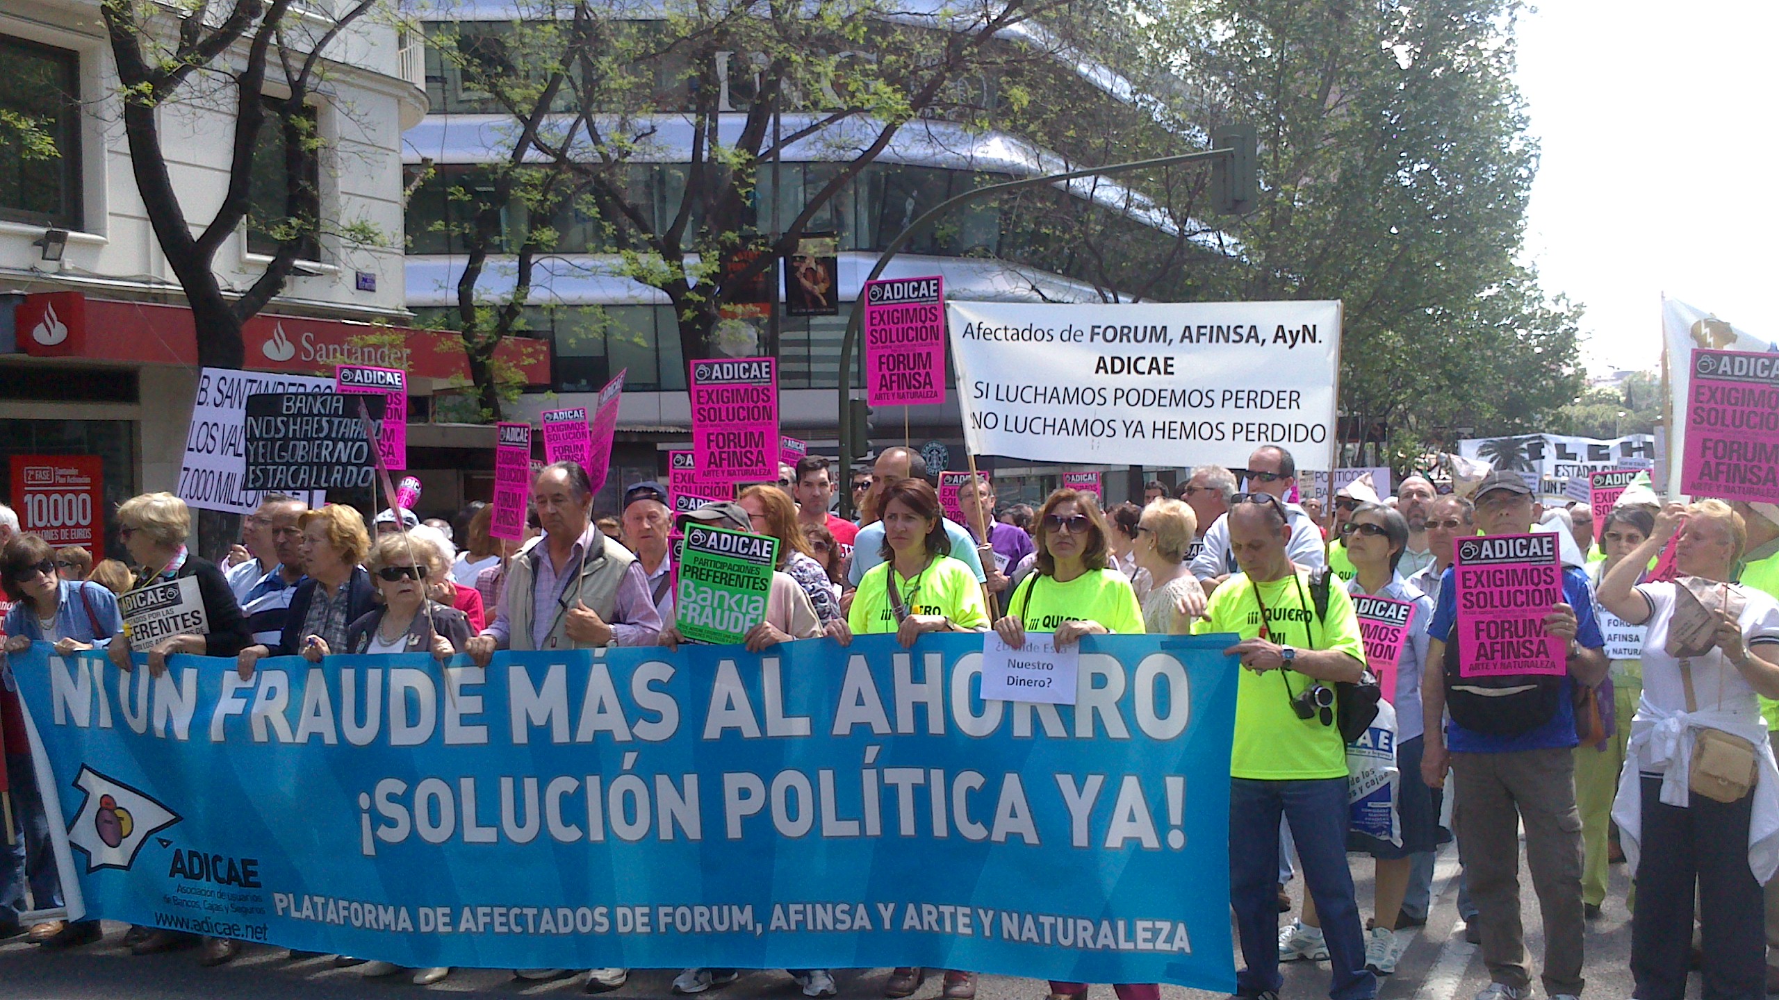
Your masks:
[[[1332,1000],[1372,1000],[1377,977],[1364,968],[1364,931],[1347,867],[1347,779],[1229,779],[1229,904],[1247,968],[1236,993],[1252,996],[1284,986],[1279,975],[1279,817],[1292,826],[1304,888],[1316,902],[1329,945]]]

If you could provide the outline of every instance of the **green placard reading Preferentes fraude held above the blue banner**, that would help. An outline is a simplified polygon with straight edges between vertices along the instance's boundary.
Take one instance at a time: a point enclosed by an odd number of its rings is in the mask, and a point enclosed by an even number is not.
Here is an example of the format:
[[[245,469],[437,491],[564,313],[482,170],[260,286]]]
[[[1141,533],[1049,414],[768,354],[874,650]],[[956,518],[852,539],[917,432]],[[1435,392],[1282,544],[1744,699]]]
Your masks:
[[[767,617],[777,539],[687,525],[674,623],[692,642],[740,642]]]

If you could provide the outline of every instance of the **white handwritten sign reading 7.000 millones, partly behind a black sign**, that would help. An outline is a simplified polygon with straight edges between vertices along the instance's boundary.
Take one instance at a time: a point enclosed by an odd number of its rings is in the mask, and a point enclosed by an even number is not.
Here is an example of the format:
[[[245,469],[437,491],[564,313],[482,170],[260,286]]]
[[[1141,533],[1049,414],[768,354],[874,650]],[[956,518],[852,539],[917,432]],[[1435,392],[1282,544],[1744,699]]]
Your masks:
[[[205,368],[197,374],[192,422],[185,431],[185,457],[180,461],[180,500],[203,511],[251,514],[260,505],[260,491],[242,484],[247,479],[247,397],[285,391],[333,391],[333,379],[310,375],[269,375]],[[285,491],[310,507],[327,502],[318,491]]]

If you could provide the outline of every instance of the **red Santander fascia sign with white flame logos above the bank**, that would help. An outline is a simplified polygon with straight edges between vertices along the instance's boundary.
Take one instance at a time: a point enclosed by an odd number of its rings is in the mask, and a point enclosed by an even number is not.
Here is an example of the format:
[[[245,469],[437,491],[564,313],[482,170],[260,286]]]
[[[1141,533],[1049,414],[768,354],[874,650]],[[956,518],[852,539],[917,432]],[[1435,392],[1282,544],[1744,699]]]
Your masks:
[[[80,292],[25,295],[14,311],[20,349],[32,358],[91,358],[142,365],[197,365],[197,333],[185,306],[87,299]],[[340,365],[400,368],[418,379],[468,379],[454,333],[315,317],[258,315],[242,324],[244,367],[260,372],[334,374]],[[507,338],[496,359],[548,384],[550,345]]]

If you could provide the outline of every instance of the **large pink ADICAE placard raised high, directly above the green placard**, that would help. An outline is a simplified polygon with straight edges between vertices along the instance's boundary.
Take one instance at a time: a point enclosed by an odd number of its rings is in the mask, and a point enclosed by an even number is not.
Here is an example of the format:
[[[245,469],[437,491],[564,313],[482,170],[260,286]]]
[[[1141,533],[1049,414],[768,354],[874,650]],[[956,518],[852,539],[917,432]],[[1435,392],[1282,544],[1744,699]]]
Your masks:
[[[777,363],[692,361],[692,450],[706,482],[777,482]]]

